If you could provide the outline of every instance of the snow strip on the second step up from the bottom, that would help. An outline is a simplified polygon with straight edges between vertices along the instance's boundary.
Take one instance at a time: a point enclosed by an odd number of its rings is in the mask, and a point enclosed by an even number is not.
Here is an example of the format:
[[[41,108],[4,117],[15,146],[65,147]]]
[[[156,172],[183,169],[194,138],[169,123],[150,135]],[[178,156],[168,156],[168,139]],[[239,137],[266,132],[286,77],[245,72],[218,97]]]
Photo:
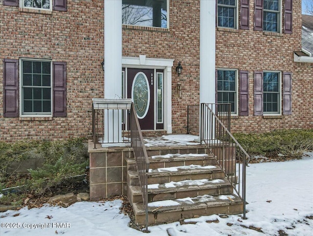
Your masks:
[[[225,181],[223,179],[197,179],[197,180],[182,180],[179,182],[171,181],[169,183],[165,184],[148,184],[148,189],[158,189],[160,187],[162,188],[176,188],[181,186],[192,186],[192,185],[205,185],[205,184],[218,184],[218,183],[224,183]]]

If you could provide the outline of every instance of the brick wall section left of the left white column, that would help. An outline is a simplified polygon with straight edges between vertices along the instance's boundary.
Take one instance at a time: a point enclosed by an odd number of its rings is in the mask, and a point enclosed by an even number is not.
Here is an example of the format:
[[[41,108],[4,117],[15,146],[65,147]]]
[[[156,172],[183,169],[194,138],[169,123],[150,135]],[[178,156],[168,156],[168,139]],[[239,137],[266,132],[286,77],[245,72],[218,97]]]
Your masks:
[[[39,14],[0,2],[0,136],[58,139],[89,137],[91,99],[103,97],[103,0],[67,1],[67,12]],[[3,59],[67,62],[67,117],[4,118]]]

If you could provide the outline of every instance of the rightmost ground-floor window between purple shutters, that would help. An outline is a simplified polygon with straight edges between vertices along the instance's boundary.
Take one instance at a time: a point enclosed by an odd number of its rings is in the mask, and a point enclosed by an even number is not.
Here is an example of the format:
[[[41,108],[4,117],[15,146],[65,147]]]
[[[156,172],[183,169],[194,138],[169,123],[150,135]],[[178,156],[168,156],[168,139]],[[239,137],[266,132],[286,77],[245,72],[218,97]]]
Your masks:
[[[263,72],[263,113],[280,114],[280,72]]]

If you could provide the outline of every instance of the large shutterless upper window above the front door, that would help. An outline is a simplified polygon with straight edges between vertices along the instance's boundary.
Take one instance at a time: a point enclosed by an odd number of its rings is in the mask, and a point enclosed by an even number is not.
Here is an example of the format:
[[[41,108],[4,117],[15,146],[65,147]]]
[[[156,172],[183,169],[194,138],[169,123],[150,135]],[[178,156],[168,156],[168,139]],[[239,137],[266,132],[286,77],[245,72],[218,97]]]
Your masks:
[[[122,23],[168,28],[168,0],[123,0]]]

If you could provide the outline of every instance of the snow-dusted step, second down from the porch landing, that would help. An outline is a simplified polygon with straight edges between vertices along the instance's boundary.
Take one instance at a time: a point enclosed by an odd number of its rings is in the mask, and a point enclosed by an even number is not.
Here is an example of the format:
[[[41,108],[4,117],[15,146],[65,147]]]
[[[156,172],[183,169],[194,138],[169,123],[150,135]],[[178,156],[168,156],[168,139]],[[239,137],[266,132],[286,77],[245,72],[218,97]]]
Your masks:
[[[219,179],[224,178],[224,172],[216,165],[201,166],[177,166],[169,168],[149,169],[148,184],[165,184],[171,181],[196,179]],[[139,185],[138,172],[128,171],[127,182],[129,186]]]

